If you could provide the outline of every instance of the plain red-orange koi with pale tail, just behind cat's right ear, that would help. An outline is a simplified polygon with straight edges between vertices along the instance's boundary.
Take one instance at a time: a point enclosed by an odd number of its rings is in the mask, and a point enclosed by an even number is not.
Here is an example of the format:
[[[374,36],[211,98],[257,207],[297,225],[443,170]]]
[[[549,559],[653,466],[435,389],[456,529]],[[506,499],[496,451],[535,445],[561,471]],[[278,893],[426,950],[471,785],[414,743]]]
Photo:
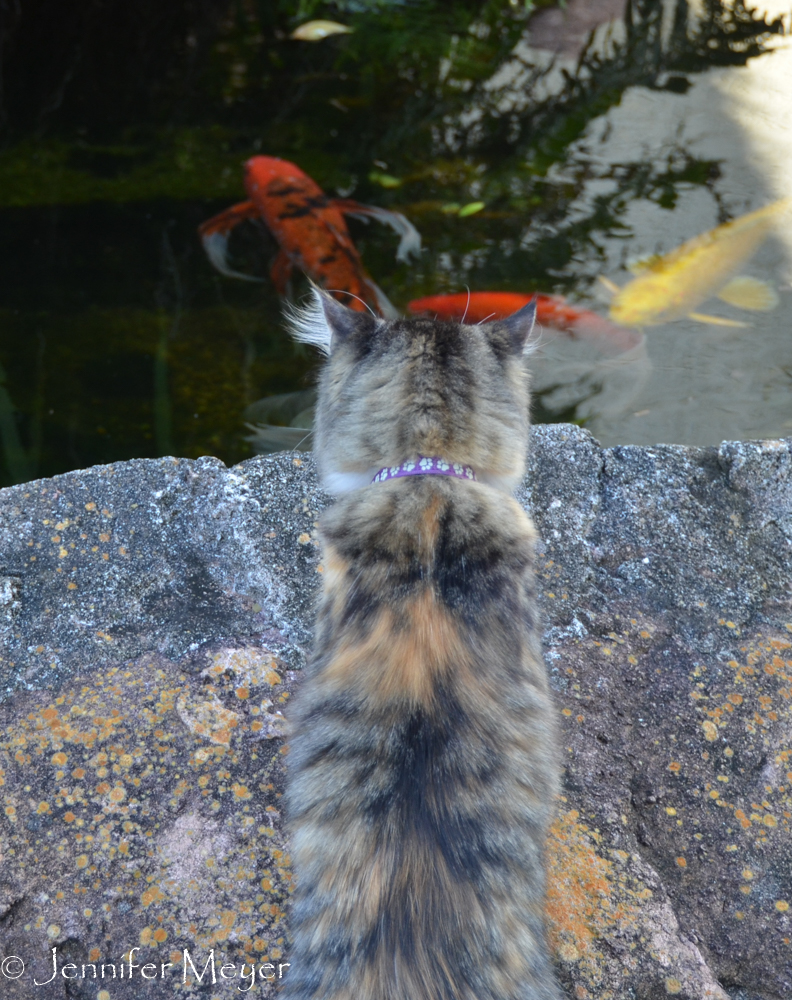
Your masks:
[[[616,326],[589,309],[570,305],[561,295],[521,295],[518,292],[459,292],[413,299],[407,308],[413,313],[434,313],[438,319],[483,323],[505,319],[536,299],[536,320],[573,340],[592,340],[609,352],[629,351],[643,342],[635,330]]]

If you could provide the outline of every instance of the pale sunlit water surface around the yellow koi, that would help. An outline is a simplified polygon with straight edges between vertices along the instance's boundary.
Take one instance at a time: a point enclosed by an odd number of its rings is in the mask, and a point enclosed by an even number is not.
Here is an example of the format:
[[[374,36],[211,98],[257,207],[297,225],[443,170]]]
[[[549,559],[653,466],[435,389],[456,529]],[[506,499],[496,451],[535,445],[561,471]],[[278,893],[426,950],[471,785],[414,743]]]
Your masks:
[[[684,95],[628,89],[551,172],[558,184],[586,177],[571,217],[590,217],[603,200],[621,202],[618,230],[598,234],[563,273],[591,279],[589,294],[607,309],[607,295],[593,283],[598,275],[624,285],[632,262],[792,192],[789,80],[792,47],[784,40],[745,67],[699,76]],[[655,178],[676,172],[680,180],[624,197],[625,177],[641,170]],[[537,366],[537,391],[551,409],[583,418],[606,444],[792,434],[792,217],[779,220],[741,272],[774,287],[777,307],[746,313],[712,298],[706,312],[749,326],[682,318],[648,328],[648,365],[635,369],[633,385],[629,366],[581,370],[572,345],[553,343]]]

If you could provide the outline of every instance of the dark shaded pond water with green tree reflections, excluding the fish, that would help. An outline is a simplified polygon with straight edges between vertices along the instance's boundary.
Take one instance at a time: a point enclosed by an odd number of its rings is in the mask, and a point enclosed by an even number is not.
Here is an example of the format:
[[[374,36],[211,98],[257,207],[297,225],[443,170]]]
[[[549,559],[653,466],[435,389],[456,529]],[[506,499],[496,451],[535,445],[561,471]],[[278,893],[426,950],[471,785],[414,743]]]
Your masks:
[[[590,305],[608,247],[633,232],[631,206],[673,210],[691,190],[717,200],[722,164],[684,145],[662,162],[636,149],[592,194],[587,129],[626,91],[681,95],[782,30],[740,2],[703,0],[693,17],[684,0],[635,0],[573,64],[526,44],[521,3],[304,0],[300,18],[296,7],[4,6],[3,484],[171,450],[238,461],[251,453],[246,407],[310,385],[314,359],[282,333],[269,284],[215,276],[195,236],[241,197],[248,156],[294,160],[326,191],[412,219],[426,250],[410,266],[394,265],[386,232],[352,224],[397,305],[466,284]],[[354,32],[289,39],[300,20],[329,16]],[[251,273],[266,274],[275,249],[252,226],[235,235]],[[552,349],[536,417],[596,423],[635,394],[616,359],[553,361]]]

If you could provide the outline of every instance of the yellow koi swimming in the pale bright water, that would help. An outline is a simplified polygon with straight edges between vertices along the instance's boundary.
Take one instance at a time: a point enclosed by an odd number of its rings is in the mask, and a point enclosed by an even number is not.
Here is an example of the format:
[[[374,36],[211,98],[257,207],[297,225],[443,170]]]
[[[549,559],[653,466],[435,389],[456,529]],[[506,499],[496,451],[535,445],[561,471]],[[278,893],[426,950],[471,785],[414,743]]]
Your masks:
[[[758,278],[732,279],[732,275],[790,207],[792,198],[782,198],[694,236],[670,253],[637,265],[638,277],[623,288],[601,278],[614,292],[610,318],[627,327],[656,326],[685,316],[721,326],[747,326],[694,310],[713,295],[742,309],[775,308],[778,295],[772,286]]]

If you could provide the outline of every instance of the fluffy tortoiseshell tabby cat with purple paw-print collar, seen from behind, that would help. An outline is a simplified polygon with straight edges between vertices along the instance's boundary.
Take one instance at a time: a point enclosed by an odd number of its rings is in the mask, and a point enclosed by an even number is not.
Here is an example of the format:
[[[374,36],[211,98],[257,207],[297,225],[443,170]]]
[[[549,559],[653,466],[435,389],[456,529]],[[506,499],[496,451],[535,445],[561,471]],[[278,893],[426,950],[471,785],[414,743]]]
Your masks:
[[[561,998],[543,861],[559,755],[534,529],[510,495],[533,321],[384,320],[318,289],[293,316],[329,355],[315,454],[339,498],[291,715],[287,1000]]]

